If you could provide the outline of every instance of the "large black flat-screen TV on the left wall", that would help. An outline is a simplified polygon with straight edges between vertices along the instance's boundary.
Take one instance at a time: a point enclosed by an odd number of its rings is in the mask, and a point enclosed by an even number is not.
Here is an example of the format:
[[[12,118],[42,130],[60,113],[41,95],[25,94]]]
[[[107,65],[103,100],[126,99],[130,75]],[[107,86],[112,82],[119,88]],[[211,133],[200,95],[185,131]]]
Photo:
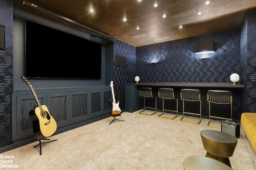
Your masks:
[[[26,20],[27,78],[100,79],[101,44]]]

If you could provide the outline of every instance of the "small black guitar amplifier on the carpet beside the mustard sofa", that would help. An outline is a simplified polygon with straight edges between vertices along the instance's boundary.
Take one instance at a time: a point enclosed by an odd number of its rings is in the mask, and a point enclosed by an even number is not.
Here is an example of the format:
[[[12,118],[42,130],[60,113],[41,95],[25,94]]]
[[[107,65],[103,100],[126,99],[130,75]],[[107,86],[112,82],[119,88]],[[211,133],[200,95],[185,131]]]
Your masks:
[[[221,122],[221,131],[228,133],[236,138],[240,137],[240,124],[228,120]]]

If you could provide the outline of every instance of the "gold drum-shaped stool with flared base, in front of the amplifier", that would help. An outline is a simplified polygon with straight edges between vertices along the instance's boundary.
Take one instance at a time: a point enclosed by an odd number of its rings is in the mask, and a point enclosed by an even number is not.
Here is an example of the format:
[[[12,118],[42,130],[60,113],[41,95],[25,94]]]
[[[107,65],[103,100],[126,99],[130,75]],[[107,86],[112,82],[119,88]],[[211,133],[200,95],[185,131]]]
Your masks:
[[[215,130],[200,132],[206,157],[218,160],[231,167],[229,157],[233,155],[237,139],[228,133]]]

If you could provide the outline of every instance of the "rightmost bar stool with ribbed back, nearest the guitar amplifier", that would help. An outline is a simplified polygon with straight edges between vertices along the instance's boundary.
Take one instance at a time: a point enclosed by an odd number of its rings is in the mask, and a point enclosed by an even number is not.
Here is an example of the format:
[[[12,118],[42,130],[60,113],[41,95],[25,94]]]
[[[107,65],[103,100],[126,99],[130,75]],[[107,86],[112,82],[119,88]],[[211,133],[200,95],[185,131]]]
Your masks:
[[[233,96],[233,94],[232,94],[232,92],[227,91],[227,90],[208,90],[206,94],[207,94],[207,102],[209,103],[209,122],[208,122],[207,126],[216,128],[216,129],[221,129],[220,127],[210,125],[211,117],[232,121],[232,96]],[[211,107],[210,107],[211,103],[230,104],[230,107],[231,107],[230,119],[224,118],[224,117],[211,116]]]

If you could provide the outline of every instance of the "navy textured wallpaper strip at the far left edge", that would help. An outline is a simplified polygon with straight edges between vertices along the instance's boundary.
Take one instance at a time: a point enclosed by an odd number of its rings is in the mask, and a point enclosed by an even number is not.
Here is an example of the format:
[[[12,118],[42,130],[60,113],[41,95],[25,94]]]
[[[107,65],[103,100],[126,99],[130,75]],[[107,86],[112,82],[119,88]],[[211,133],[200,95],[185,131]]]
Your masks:
[[[0,50],[0,147],[3,147],[12,143],[13,7],[12,0],[0,0],[0,4],[0,25],[5,27],[5,51]]]

